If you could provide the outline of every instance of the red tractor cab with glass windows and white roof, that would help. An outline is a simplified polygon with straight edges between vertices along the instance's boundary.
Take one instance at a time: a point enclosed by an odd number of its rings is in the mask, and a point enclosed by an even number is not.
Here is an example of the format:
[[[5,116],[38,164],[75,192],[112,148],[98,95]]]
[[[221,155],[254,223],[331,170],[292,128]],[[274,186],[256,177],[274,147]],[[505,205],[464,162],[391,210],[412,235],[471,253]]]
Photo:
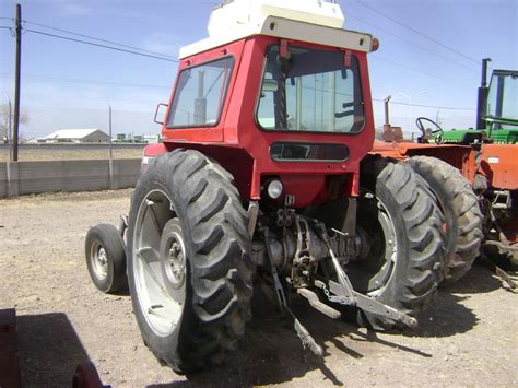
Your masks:
[[[366,55],[378,42],[343,21],[338,4],[313,0],[213,9],[209,37],[180,50],[164,144],[148,160],[188,142],[219,160],[245,199],[275,179],[279,200],[304,208],[328,201],[338,175],[340,195],[357,195],[374,140]]]

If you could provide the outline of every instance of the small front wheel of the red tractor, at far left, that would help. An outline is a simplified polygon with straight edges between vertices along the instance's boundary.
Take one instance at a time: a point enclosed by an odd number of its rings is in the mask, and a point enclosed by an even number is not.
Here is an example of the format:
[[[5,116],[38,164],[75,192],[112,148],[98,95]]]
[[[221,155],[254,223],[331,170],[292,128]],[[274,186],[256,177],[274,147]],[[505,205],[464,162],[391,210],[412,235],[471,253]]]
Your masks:
[[[126,291],[126,252],[122,236],[110,224],[89,230],[85,238],[86,266],[95,286],[106,294]]]

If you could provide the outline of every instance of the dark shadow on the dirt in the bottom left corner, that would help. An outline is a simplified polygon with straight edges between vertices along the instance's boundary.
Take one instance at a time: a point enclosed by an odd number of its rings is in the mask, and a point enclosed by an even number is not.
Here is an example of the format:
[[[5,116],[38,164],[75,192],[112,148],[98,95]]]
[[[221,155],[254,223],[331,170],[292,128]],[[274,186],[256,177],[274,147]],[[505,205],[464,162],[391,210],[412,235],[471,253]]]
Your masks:
[[[90,361],[62,313],[17,316],[22,386],[70,387],[79,364]]]

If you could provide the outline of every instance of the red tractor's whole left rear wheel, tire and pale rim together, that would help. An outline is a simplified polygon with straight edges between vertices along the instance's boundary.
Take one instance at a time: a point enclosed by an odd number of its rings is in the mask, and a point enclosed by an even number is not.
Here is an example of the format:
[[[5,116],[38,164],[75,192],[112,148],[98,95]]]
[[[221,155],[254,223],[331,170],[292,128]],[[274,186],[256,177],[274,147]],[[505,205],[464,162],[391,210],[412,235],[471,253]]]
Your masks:
[[[250,236],[232,175],[197,151],[158,156],[131,201],[128,275],[144,342],[180,373],[217,361],[250,318]]]

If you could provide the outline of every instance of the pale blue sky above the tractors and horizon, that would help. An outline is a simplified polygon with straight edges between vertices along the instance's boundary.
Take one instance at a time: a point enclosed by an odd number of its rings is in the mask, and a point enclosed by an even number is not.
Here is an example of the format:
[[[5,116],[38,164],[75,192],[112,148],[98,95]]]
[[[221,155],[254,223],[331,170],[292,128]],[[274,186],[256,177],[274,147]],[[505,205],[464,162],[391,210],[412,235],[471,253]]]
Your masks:
[[[15,3],[0,2],[0,26],[12,26]],[[22,0],[21,104],[28,117],[21,127],[23,137],[42,137],[61,128],[107,130],[109,105],[114,133],[157,133],[155,107],[168,101],[177,70],[174,61],[36,32],[84,39],[48,27],[67,30],[177,58],[181,46],[208,36],[207,22],[216,3]],[[380,40],[380,48],[368,56],[376,126],[384,121],[381,99],[391,95],[391,124],[402,126],[407,133],[415,130],[419,116],[438,119],[445,128],[471,127],[481,59],[492,58],[490,70],[518,69],[516,0],[339,3],[345,28]],[[0,104],[13,98],[13,74],[14,38],[10,30],[0,28]]]

